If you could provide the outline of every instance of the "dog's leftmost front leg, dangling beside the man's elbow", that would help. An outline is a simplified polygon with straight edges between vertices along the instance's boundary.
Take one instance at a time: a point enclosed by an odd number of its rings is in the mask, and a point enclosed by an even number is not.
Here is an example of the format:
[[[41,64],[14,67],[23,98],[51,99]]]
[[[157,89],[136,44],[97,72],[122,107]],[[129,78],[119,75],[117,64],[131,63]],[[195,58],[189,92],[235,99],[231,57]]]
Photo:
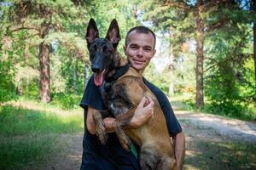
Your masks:
[[[96,135],[98,136],[102,144],[106,144],[108,139],[108,133],[103,125],[101,111],[95,110],[92,114],[92,117],[95,122]]]

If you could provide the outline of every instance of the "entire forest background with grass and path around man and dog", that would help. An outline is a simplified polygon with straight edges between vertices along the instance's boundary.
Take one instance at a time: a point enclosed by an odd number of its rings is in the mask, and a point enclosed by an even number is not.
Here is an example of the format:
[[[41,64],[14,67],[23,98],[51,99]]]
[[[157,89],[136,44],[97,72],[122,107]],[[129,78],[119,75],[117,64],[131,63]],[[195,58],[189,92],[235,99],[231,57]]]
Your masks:
[[[90,18],[156,34],[144,77],[186,136],[184,169],[255,169],[253,0],[0,0],[0,170],[79,169]]]

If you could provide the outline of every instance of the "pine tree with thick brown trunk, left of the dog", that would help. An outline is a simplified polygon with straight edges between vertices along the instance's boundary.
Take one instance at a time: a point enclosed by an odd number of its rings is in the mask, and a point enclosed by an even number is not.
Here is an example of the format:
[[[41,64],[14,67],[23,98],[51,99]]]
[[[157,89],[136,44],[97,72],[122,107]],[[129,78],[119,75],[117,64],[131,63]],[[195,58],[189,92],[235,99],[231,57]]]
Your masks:
[[[78,3],[78,1],[75,1]],[[50,101],[50,71],[49,55],[51,41],[66,41],[67,37],[73,39],[78,34],[69,33],[75,26],[81,27],[84,22],[85,8],[76,6],[72,1],[14,1],[10,7],[9,31],[26,31],[26,38],[33,38],[34,46],[38,47],[40,70],[40,98],[42,102]],[[86,20],[86,18],[83,18]],[[59,33],[60,32],[60,33]],[[64,38],[65,37],[65,38]],[[80,38],[80,42],[83,40]],[[81,50],[79,50],[81,51]],[[85,56],[84,56],[85,57]]]

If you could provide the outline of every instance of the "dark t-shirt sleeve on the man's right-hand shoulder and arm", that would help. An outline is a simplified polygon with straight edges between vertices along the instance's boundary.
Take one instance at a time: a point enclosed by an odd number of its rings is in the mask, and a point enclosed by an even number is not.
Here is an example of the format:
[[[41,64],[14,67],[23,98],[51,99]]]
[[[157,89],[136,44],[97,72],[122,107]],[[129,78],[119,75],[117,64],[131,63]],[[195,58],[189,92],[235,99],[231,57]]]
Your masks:
[[[167,99],[166,94],[164,94],[159,88],[156,88],[152,83],[148,82],[146,79],[144,79],[144,82],[147,85],[147,87],[153,92],[153,94],[160,103],[160,107],[166,117],[166,125],[168,127],[170,135],[173,137],[177,133],[182,132],[182,127],[180,126],[176,116],[174,115],[172,106],[169,100]]]

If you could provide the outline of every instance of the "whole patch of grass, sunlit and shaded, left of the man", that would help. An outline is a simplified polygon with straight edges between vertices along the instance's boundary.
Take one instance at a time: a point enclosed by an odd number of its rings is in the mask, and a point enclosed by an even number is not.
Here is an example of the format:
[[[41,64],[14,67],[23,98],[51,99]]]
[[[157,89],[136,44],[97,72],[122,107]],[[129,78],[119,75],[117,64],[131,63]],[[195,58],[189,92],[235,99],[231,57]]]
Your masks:
[[[20,99],[0,107],[0,169],[39,165],[65,147],[63,133],[84,131],[82,110]]]

